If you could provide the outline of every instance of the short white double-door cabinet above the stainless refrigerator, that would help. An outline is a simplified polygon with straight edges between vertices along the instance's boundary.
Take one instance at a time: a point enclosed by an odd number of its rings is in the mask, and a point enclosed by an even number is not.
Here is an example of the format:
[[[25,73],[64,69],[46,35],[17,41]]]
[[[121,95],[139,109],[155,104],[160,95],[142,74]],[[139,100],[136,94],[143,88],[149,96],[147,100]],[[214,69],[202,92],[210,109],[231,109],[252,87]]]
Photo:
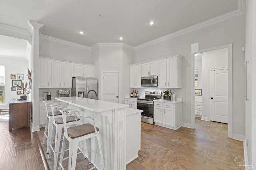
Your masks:
[[[84,64],[74,64],[74,77],[94,77],[94,66]]]

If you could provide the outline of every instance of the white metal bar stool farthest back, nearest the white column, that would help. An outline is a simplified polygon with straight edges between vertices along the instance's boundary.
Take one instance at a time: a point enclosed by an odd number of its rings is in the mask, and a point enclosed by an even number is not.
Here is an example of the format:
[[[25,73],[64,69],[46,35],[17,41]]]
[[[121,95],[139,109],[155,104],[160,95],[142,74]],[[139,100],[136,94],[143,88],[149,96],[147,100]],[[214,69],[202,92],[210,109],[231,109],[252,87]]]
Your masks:
[[[52,118],[52,112],[48,112],[47,106],[49,106],[50,104],[55,104],[58,105],[60,107],[65,107],[65,104],[58,104],[59,101],[44,101],[44,105],[45,105],[45,109],[46,109],[46,123],[45,123],[45,127],[44,127],[44,140],[42,145],[44,145],[45,139],[47,138],[47,149],[46,149],[46,153],[49,153],[49,149],[50,149],[50,137],[51,137],[51,132],[52,132],[52,125],[53,125],[53,118]],[[61,112],[56,110],[54,111],[54,116],[55,117],[62,117],[61,116]]]

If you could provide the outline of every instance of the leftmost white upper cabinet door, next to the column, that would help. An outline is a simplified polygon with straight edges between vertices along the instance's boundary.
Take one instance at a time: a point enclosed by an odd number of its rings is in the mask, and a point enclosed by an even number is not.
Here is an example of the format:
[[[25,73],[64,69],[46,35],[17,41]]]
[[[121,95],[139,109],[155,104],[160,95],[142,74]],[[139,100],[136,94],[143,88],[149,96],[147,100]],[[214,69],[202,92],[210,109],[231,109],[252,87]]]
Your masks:
[[[50,60],[39,59],[39,87],[50,87]]]

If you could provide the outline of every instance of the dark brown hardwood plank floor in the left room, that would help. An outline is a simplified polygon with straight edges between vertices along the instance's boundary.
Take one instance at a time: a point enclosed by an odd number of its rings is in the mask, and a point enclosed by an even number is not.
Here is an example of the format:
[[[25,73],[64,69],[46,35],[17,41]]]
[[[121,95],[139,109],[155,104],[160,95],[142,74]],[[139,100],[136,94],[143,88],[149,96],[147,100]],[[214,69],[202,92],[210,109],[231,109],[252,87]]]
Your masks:
[[[37,142],[39,141],[37,134],[30,132],[29,127],[8,131],[8,125],[8,121],[0,122],[0,169],[48,169],[46,160],[42,160],[40,154],[41,146]]]

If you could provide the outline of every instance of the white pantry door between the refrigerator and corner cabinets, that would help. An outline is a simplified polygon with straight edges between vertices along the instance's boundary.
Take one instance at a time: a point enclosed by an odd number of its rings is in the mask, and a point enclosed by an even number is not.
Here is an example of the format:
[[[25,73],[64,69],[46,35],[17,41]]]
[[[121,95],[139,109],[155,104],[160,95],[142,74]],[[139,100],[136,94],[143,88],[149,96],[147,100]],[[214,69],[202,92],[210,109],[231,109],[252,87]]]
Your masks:
[[[119,72],[103,72],[103,100],[119,103]]]

